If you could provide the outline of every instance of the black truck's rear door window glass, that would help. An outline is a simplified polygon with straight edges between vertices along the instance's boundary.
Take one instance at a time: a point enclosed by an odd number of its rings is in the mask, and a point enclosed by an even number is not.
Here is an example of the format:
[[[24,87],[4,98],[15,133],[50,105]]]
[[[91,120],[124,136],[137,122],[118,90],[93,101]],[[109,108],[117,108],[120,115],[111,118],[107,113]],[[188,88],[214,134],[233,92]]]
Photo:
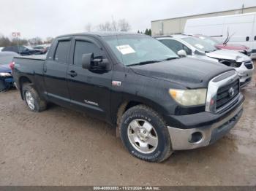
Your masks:
[[[69,55],[70,41],[60,41],[57,45],[56,52],[54,55],[54,61],[60,63],[67,63]]]

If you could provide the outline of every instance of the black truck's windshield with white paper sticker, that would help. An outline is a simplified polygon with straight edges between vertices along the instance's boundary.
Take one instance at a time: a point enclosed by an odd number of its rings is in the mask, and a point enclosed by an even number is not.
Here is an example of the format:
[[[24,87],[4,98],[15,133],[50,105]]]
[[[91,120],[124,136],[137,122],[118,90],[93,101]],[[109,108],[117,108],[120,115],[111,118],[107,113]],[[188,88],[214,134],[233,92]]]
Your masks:
[[[117,39],[117,38],[118,39]],[[140,63],[154,63],[166,59],[178,58],[178,55],[150,36],[118,35],[103,37],[125,66]]]

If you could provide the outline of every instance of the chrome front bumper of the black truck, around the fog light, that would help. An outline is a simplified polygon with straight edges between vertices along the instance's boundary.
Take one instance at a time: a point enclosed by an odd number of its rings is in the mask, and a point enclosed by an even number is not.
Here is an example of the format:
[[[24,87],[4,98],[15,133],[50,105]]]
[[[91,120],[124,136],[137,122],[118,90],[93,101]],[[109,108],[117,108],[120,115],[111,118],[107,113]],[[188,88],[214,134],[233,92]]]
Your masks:
[[[191,129],[180,129],[168,126],[167,130],[170,135],[173,150],[195,149],[198,147],[206,147],[214,143],[214,141],[220,139],[236,125],[242,112],[243,104],[238,106],[238,108],[225,117],[225,119],[213,123],[212,125]],[[199,132],[202,137],[199,141],[192,142],[192,133],[197,132]]]

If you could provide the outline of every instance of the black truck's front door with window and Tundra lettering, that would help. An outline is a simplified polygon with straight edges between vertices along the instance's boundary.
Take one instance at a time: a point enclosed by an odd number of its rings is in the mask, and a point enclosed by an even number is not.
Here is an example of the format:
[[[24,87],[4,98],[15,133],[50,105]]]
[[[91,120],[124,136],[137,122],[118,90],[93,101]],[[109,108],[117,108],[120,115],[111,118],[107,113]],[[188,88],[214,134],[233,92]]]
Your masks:
[[[94,117],[106,119],[110,115],[112,71],[90,71],[82,68],[83,54],[94,53],[94,57],[107,58],[104,48],[96,39],[77,37],[73,41],[72,52],[72,64],[67,71],[72,105]]]

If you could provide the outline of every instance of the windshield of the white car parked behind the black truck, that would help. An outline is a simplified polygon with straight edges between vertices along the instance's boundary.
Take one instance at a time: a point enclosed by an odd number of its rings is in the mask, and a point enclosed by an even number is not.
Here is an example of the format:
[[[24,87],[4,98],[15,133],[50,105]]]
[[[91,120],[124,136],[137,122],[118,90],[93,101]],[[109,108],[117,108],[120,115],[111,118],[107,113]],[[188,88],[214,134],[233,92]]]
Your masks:
[[[204,41],[203,39],[189,36],[189,37],[183,38],[182,40],[184,40],[184,42],[187,42],[190,45],[192,45],[192,47],[195,47],[195,49],[203,51],[203,52],[213,52],[213,51],[217,50],[217,48],[214,47],[213,44],[208,43],[208,42]]]

